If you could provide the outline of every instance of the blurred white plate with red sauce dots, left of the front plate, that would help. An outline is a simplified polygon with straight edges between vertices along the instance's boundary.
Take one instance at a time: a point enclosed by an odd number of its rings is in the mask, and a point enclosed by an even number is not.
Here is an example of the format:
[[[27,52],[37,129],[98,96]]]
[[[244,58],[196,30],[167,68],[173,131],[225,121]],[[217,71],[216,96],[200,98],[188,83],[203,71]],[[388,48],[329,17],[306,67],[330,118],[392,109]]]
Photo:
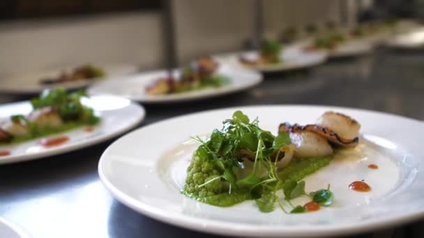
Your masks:
[[[66,143],[48,148],[40,145],[41,138],[14,145],[0,145],[0,150],[10,152],[8,156],[0,157],[0,164],[40,159],[86,148],[89,145],[106,141],[109,138],[128,131],[128,129],[135,127],[141,122],[145,116],[142,106],[122,97],[99,95],[84,98],[82,102],[91,106],[101,118],[99,124],[94,126],[91,132],[87,132],[87,127],[79,127],[61,134],[47,136],[47,138],[56,138],[58,136],[68,136],[69,138],[69,141]],[[9,118],[11,115],[27,115],[31,109],[32,107],[29,102],[3,104],[0,106],[0,122],[5,118]]]

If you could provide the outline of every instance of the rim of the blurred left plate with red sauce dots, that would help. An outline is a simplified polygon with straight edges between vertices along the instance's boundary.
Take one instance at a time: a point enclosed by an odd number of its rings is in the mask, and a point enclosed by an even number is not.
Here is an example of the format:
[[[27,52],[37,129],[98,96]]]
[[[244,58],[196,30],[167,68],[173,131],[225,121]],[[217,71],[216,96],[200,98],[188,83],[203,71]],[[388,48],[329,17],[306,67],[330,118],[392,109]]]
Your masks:
[[[122,97],[119,97],[119,98],[123,99]],[[9,103],[9,104],[17,104],[17,103],[25,103],[25,102],[29,102],[29,101],[12,102],[12,103]],[[3,105],[6,105],[6,104],[2,104],[1,106],[3,106]],[[83,149],[83,148],[87,148],[91,145],[96,145],[96,144],[102,143],[104,141],[107,141],[107,140],[114,138],[116,136],[119,136],[121,134],[124,134],[124,133],[128,132],[130,129],[139,125],[139,123],[141,123],[144,120],[144,118],[146,118],[146,109],[144,109],[144,106],[142,106],[141,104],[137,104],[135,102],[131,102],[131,101],[130,101],[129,105],[137,107],[140,110],[140,116],[139,116],[139,118],[137,118],[137,120],[128,124],[126,127],[123,127],[122,129],[116,130],[116,132],[109,133],[109,134],[103,134],[102,136],[94,137],[94,138],[91,138],[90,140],[87,140],[87,141],[79,141],[79,142],[73,143],[71,145],[68,145],[66,147],[62,147],[62,148],[56,148],[56,149],[53,149],[53,150],[45,150],[43,152],[36,152],[36,153],[30,153],[30,154],[20,154],[20,155],[17,155],[15,157],[4,157],[4,158],[1,158],[0,166],[6,165],[6,164],[16,164],[16,163],[20,163],[20,162],[24,162],[24,161],[33,161],[33,160],[38,160],[38,159],[44,159],[44,158],[47,158],[47,157],[52,157],[54,155],[64,154],[64,153],[72,152],[72,151],[75,151],[75,150],[80,150],[80,149]],[[34,140],[36,140],[36,139],[34,139]]]

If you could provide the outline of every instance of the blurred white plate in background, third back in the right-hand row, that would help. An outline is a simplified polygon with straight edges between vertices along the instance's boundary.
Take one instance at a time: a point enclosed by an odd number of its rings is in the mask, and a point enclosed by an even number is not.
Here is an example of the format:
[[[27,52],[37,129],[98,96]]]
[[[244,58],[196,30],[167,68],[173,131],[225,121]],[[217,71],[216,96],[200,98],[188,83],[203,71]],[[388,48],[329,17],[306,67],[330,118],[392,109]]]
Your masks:
[[[258,70],[260,72],[282,72],[310,68],[315,65],[319,65],[326,61],[327,56],[328,55],[324,51],[307,52],[303,51],[301,47],[286,47],[280,55],[282,63],[268,65],[245,65],[240,62],[240,57],[256,60],[258,57],[257,51],[245,51],[215,57],[218,59],[218,62],[224,64],[227,63],[234,68],[248,68]]]

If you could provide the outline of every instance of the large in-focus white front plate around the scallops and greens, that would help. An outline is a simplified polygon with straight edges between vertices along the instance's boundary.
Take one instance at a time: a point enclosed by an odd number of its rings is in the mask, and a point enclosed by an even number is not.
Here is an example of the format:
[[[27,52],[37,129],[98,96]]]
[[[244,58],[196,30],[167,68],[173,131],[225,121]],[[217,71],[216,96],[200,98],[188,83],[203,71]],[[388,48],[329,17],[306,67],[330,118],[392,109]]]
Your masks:
[[[276,133],[280,122],[315,122],[324,111],[346,113],[361,123],[356,156],[339,156],[305,178],[306,191],[331,184],[335,203],[319,212],[264,214],[255,202],[222,208],[179,193],[185,168],[197,144],[190,136],[221,128],[222,120],[242,110]],[[423,122],[386,113],[328,106],[251,106],[180,116],[137,129],[105,150],[98,170],[116,199],[137,212],[183,228],[248,237],[328,237],[398,225],[424,216]],[[368,164],[377,164],[371,170]],[[369,193],[348,189],[365,180]],[[305,201],[295,200],[302,204]]]

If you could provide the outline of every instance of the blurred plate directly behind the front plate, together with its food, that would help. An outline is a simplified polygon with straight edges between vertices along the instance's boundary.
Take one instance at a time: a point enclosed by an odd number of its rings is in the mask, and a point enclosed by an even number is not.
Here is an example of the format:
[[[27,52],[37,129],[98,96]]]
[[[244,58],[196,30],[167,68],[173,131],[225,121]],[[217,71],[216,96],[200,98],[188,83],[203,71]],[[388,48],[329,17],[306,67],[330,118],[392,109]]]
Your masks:
[[[101,81],[88,89],[89,95],[118,95],[144,103],[170,103],[217,97],[259,84],[262,75],[232,68],[215,58],[203,57],[183,70],[143,72],[119,81]]]

